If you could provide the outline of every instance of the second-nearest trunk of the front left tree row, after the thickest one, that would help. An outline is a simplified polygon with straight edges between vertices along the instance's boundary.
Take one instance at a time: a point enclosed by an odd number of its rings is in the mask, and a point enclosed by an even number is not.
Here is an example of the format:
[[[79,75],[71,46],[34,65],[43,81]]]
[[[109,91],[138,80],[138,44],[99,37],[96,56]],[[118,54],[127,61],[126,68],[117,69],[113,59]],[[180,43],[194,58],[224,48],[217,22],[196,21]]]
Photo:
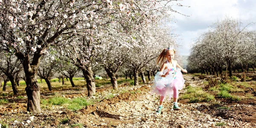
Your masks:
[[[91,66],[87,66],[86,68],[82,68],[84,79],[86,80],[88,97],[95,95],[96,86],[95,79],[93,77],[93,71]]]

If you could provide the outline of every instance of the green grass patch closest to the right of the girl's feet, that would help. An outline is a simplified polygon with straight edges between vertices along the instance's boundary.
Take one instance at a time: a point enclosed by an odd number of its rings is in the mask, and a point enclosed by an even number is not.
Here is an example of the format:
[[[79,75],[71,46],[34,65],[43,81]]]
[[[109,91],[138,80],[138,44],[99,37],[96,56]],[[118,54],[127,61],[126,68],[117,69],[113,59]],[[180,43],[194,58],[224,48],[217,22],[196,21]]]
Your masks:
[[[189,102],[209,102],[214,100],[214,95],[208,94],[200,87],[187,87],[187,92],[180,99],[189,99]]]

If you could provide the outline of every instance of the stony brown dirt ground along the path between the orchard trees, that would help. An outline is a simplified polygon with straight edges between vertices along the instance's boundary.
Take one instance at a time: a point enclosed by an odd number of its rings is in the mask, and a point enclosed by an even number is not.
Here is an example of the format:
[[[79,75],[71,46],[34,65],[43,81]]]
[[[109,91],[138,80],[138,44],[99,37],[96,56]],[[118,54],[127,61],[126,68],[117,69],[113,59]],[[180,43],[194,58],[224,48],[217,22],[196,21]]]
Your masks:
[[[204,80],[184,75],[186,85],[200,86]],[[181,110],[172,109],[172,100],[164,102],[161,114],[156,115],[159,97],[150,94],[151,84],[122,85],[113,93],[111,87],[97,90],[95,97],[86,97],[83,92],[66,94],[64,97],[98,99],[79,111],[70,111],[65,106],[43,108],[42,114],[27,113],[25,102],[0,106],[0,121],[19,128],[256,128],[256,102],[187,103],[179,101]],[[180,91],[182,95],[186,91]],[[113,93],[111,99],[104,99]],[[218,101],[215,101],[218,102]],[[217,109],[219,106],[229,109]],[[3,128],[3,126],[2,126]]]

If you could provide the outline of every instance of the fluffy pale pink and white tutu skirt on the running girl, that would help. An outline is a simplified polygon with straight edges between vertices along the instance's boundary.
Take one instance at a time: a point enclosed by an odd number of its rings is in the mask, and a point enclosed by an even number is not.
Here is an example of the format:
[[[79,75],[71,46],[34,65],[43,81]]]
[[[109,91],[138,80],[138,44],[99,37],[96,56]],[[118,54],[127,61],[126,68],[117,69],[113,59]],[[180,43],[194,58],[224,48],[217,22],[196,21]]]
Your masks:
[[[169,100],[173,97],[172,87],[175,85],[179,90],[183,88],[185,80],[183,79],[180,68],[177,68],[175,74],[169,74],[167,77],[161,77],[161,72],[157,72],[154,77],[154,85],[151,94],[160,96],[169,96]]]

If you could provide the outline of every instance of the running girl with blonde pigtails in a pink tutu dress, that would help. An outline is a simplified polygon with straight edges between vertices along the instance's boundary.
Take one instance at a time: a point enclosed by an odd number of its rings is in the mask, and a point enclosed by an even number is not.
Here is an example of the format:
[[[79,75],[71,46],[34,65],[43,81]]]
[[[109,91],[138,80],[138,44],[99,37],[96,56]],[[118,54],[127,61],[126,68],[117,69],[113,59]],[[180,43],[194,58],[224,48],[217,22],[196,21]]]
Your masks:
[[[181,71],[185,73],[187,73],[187,71],[186,69],[180,67],[180,65],[177,63],[177,60],[173,60],[174,54],[175,50],[173,48],[166,48],[163,49],[161,54],[157,57],[157,64],[160,63],[162,67],[154,77],[154,85],[152,91],[152,93],[160,95],[160,102],[156,114],[161,113],[161,110],[163,108],[162,103],[166,95],[169,96],[169,100],[172,98],[173,95],[173,109],[180,109],[177,104],[179,94],[178,90],[183,88],[185,82],[182,77]]]

